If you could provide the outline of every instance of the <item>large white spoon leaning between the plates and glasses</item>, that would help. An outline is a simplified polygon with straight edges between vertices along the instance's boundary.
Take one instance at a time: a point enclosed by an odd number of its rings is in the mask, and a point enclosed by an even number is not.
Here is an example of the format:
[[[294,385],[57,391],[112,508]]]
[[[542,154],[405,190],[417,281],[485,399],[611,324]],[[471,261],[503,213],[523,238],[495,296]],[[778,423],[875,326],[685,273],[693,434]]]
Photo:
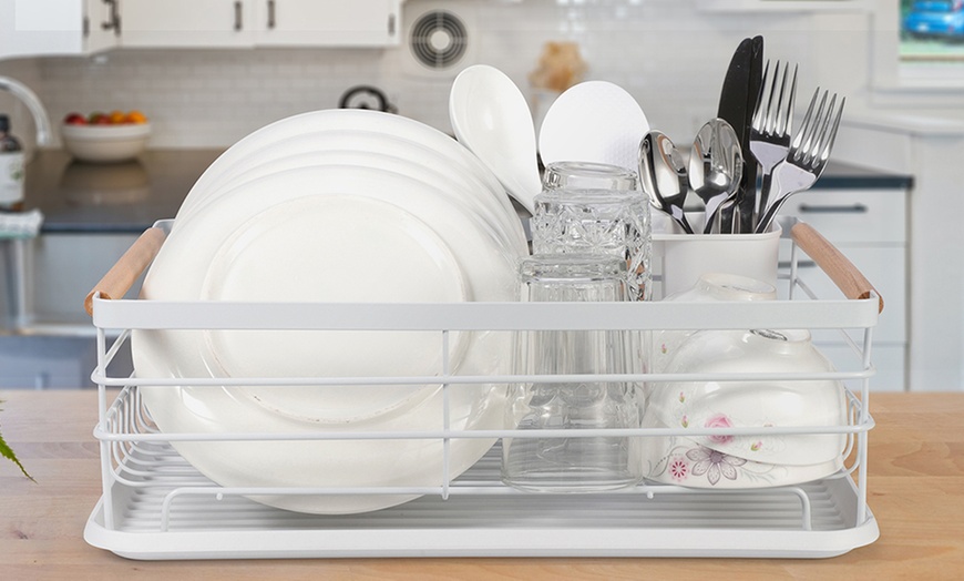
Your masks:
[[[533,200],[542,190],[535,129],[515,83],[494,67],[469,67],[452,82],[449,119],[459,142],[489,166],[509,195],[534,213]]]

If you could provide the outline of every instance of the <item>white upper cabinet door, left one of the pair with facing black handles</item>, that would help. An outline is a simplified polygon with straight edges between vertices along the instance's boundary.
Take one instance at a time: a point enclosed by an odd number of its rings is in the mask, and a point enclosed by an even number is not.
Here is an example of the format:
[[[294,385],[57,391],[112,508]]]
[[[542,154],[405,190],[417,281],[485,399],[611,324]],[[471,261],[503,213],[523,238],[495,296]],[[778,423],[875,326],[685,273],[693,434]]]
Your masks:
[[[253,42],[250,0],[123,0],[123,47],[217,48]]]

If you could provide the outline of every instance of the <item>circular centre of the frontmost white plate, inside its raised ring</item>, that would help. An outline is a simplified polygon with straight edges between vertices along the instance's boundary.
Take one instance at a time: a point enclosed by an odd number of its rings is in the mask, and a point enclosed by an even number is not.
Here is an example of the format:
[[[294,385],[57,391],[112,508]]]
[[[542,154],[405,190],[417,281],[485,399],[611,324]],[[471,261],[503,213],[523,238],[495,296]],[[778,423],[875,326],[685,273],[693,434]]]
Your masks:
[[[276,204],[234,231],[214,255],[201,298],[454,303],[468,294],[458,261],[424,222],[377,200],[328,195]],[[427,334],[209,330],[205,338],[202,356],[218,377],[431,375],[441,367],[439,337]],[[458,363],[466,336],[452,342]],[[271,411],[317,424],[378,417],[427,395],[399,386],[369,386],[363,397],[356,389],[238,390]]]

